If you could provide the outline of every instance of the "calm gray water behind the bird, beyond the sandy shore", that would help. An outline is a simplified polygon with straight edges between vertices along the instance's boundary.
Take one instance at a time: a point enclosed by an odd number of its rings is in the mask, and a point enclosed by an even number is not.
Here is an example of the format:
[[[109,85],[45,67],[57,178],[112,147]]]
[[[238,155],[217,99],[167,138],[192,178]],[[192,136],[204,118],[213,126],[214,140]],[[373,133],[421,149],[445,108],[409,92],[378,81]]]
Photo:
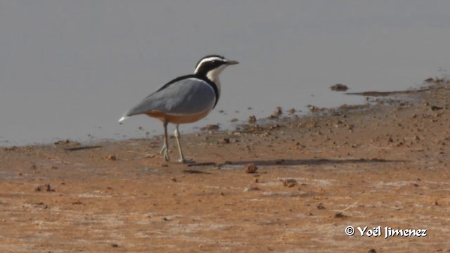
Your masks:
[[[449,10],[421,0],[1,0],[0,145],[160,134],[157,119],[117,119],[210,53],[240,65],[221,74],[217,108],[184,132],[278,105],[363,102],[330,91],[336,83],[416,87],[449,67]]]

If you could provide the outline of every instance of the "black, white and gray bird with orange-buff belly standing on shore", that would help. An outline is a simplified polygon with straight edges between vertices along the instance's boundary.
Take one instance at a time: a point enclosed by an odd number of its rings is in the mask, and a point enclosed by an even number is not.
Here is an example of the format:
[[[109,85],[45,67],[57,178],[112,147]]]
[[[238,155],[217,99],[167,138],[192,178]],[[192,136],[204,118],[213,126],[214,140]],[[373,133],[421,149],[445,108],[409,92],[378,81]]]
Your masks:
[[[215,108],[220,98],[221,85],[219,74],[229,65],[238,64],[236,60],[227,60],[224,56],[209,55],[198,60],[193,74],[176,77],[160,86],[155,92],[124,113],[119,119],[122,123],[133,115],[148,115],[159,119],[164,126],[164,144],[160,155],[169,161],[167,125],[175,124],[174,136],[179,150],[179,162],[191,163],[183,155],[180,143],[179,124],[197,122],[206,117]]]

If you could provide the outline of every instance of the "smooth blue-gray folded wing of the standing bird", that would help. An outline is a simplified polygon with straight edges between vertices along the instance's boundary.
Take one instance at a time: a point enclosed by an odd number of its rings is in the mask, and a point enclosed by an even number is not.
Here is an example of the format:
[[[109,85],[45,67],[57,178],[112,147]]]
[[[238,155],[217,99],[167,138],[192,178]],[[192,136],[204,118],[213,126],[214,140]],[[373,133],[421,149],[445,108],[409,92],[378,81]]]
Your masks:
[[[176,115],[192,115],[211,109],[215,101],[216,95],[210,84],[193,77],[174,82],[165,89],[150,94],[126,112],[124,117],[152,110]]]

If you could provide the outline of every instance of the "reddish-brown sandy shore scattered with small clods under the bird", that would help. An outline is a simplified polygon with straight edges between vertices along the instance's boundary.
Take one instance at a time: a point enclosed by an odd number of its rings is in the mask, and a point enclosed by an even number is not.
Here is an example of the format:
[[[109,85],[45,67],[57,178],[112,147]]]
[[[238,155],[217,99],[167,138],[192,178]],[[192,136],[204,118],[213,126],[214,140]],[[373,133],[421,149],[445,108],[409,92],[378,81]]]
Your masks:
[[[450,83],[394,95],[183,136],[203,166],[161,136],[1,148],[0,252],[450,252]]]

